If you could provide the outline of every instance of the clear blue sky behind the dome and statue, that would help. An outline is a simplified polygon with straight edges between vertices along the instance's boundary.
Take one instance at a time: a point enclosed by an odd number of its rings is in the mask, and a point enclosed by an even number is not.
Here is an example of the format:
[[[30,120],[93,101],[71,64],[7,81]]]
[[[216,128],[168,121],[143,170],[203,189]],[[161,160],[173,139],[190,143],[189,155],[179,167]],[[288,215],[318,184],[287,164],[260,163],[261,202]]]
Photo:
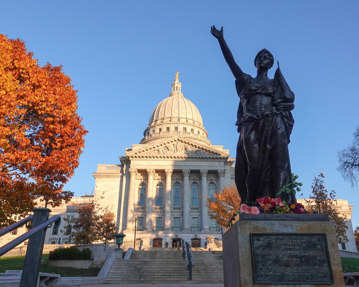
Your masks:
[[[78,112],[89,133],[66,188],[90,193],[97,164],[119,164],[125,148],[140,142],[176,71],[211,142],[235,157],[238,97],[210,34],[211,25],[223,25],[244,72],[256,74],[253,60],[262,48],[280,61],[296,97],[289,149],[304,195],[325,168],[328,188],[354,206],[358,226],[358,188],[351,189],[336,166],[337,151],[359,124],[359,2],[223,2],[1,2],[0,33],[25,41],[41,65],[62,64],[78,90]]]

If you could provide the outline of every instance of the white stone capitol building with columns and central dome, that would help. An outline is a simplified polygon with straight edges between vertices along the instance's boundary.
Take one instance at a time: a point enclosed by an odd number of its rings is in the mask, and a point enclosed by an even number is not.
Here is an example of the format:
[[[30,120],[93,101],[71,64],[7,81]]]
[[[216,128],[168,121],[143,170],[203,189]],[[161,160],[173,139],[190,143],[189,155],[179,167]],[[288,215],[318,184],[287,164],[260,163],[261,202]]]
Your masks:
[[[222,246],[224,229],[209,218],[205,203],[224,186],[234,184],[235,158],[223,146],[211,144],[199,110],[183,97],[181,89],[177,72],[169,97],[154,108],[140,143],[125,149],[118,164],[99,164],[93,173],[94,197],[115,214],[118,232],[126,234],[124,248],[136,244],[136,249],[149,249],[166,243],[177,247],[182,239],[192,247],[214,242]],[[71,219],[76,216],[76,204],[90,200],[74,197],[67,204],[50,207],[51,215]],[[305,204],[304,199],[298,202]],[[343,199],[337,199],[335,206],[346,216],[349,239],[338,247],[357,252],[353,206]],[[38,201],[38,207],[44,203]],[[20,218],[14,215],[14,219]],[[58,226],[48,228],[45,244],[71,243],[71,226],[62,230],[65,225],[62,219]],[[26,231],[22,227],[0,237],[0,246]]]

